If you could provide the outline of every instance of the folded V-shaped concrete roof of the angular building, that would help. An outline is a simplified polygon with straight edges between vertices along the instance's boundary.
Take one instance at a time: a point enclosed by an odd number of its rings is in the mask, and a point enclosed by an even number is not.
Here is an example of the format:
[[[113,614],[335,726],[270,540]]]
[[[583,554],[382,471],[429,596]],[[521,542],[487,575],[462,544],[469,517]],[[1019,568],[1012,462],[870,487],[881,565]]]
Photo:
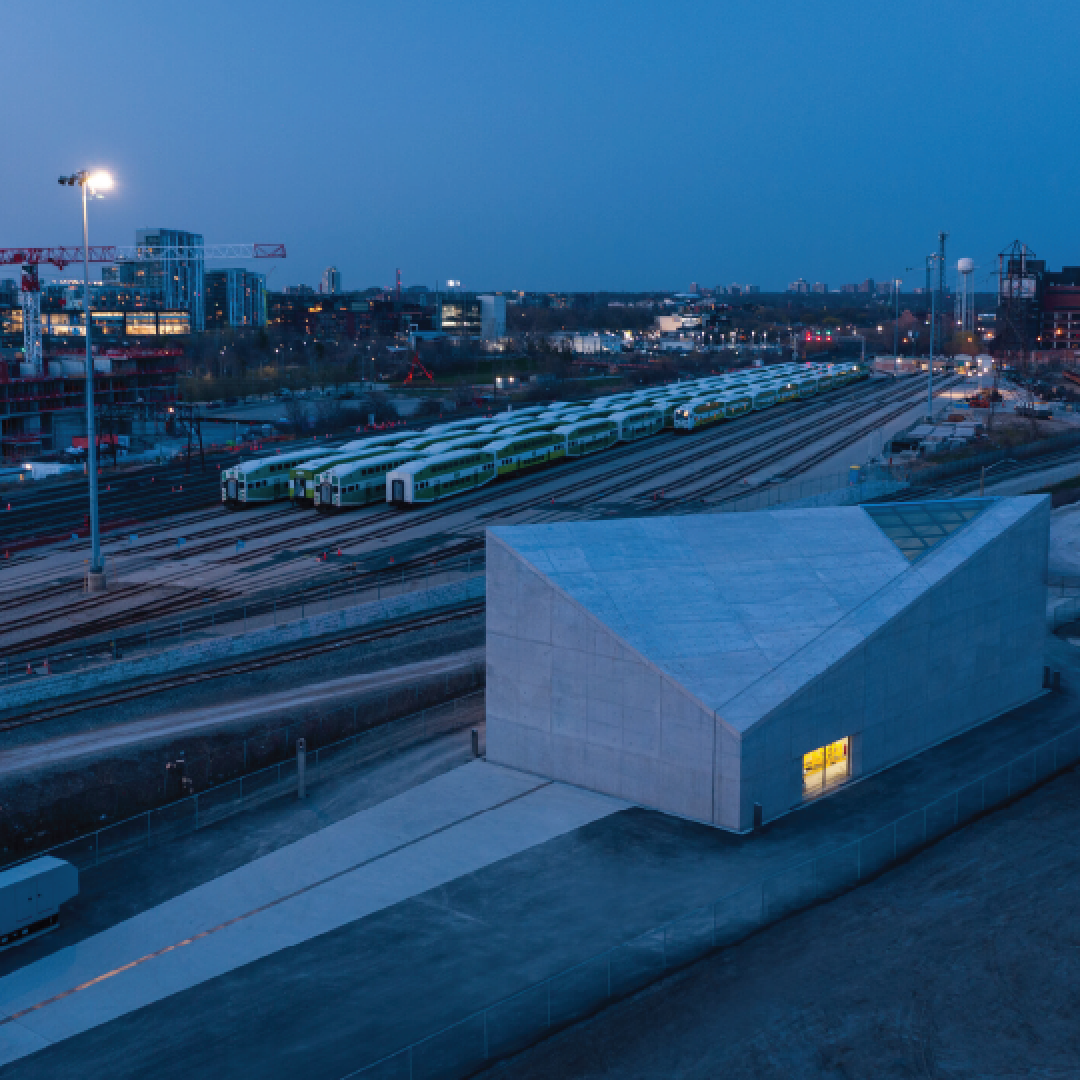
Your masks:
[[[914,564],[862,507],[490,532],[744,732],[1041,498],[983,500]]]

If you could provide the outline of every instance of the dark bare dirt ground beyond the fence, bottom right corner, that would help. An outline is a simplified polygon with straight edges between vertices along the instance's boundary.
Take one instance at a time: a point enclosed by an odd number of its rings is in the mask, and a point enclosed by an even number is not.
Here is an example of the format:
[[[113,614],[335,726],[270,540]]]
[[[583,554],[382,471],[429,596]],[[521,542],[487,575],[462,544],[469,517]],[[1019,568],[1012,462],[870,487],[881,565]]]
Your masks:
[[[1080,1077],[1080,774],[492,1072]]]

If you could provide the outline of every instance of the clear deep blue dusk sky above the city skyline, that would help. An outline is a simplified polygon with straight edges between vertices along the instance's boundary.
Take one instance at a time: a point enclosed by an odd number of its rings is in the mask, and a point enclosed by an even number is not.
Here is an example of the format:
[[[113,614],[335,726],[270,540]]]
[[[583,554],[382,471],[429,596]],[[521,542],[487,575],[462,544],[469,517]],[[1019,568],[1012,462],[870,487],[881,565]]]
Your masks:
[[[91,243],[283,241],[271,288],[835,287],[942,228],[985,288],[1014,239],[1080,262],[1078,31],[1000,0],[6,4],[0,246],[80,243],[56,177],[94,164]]]

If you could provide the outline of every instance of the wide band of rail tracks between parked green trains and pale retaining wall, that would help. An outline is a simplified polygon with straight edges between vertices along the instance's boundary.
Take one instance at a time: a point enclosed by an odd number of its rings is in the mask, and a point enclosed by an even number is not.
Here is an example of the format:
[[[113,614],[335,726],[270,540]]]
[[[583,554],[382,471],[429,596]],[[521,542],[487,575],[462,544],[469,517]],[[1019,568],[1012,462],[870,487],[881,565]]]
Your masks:
[[[447,561],[468,572],[471,556],[482,553],[484,529],[495,522],[719,509],[775,477],[845,471],[865,458],[872,433],[916,415],[922,395],[921,386],[869,380],[409,510],[374,504],[322,517],[278,502],[230,514],[218,501],[216,470],[213,486],[203,480],[198,497],[190,482],[179,491],[181,484],[158,487],[156,476],[152,485],[143,481],[123,508],[130,524],[104,535],[108,593],[83,594],[81,539],[27,545],[3,559],[0,594],[10,618],[0,650],[12,663],[24,657],[37,662],[46,652],[62,663],[66,646],[130,625],[184,616],[206,620],[218,606],[246,603],[307,607],[354,583],[407,584],[430,577],[440,563],[445,569]],[[184,500],[179,509],[174,500]]]

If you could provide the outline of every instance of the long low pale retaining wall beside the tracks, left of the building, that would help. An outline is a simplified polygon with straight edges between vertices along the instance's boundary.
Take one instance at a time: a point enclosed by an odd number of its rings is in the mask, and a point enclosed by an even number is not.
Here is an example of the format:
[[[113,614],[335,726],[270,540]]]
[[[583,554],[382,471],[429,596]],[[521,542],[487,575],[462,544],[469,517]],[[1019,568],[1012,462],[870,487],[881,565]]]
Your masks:
[[[297,619],[280,626],[267,626],[249,634],[215,637],[206,642],[181,645],[175,649],[157,652],[149,657],[133,657],[118,660],[100,667],[92,667],[70,675],[41,676],[32,681],[0,690],[0,708],[18,708],[40,701],[66,698],[85,693],[100,687],[144,678],[148,675],[164,675],[185,667],[220,663],[265,649],[281,648],[298,642],[306,642],[328,634],[339,634],[392,619],[402,619],[424,611],[456,607],[468,600],[481,599],[485,595],[483,577],[468,578],[449,585],[402,593],[372,604],[359,604],[327,615]]]

